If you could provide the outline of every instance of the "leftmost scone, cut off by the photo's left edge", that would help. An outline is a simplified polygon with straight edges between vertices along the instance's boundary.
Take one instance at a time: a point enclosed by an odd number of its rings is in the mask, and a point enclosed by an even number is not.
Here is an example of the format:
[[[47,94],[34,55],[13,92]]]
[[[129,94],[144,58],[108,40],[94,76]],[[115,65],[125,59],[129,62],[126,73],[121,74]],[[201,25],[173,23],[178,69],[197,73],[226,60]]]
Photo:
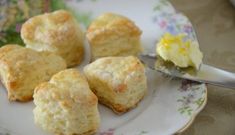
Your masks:
[[[0,48],[0,78],[11,101],[31,100],[36,85],[65,68],[64,59],[52,53],[18,45]]]

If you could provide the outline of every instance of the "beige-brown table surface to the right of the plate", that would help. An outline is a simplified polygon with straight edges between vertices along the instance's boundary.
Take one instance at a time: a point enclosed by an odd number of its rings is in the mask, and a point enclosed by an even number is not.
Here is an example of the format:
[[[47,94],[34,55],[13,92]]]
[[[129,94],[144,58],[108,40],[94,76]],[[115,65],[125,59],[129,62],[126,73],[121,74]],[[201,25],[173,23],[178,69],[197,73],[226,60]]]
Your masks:
[[[229,0],[170,0],[195,26],[204,63],[235,72],[235,7]],[[208,102],[182,135],[235,135],[235,90],[208,85]]]

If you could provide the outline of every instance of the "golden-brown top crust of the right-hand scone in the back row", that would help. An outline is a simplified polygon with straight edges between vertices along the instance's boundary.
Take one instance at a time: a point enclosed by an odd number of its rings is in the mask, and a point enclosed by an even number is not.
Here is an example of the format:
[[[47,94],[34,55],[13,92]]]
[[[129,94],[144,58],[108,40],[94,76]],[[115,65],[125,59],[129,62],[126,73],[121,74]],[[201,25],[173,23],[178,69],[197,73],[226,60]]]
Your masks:
[[[127,17],[114,13],[105,13],[90,24],[86,36],[92,44],[113,35],[119,37],[140,36],[141,34],[142,31]]]

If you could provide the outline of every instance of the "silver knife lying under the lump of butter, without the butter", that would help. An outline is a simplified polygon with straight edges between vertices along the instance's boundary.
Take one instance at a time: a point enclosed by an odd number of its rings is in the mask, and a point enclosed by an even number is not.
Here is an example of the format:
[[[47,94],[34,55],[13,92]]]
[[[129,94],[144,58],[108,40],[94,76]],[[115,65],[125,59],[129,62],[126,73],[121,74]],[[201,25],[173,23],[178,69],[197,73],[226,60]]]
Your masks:
[[[163,61],[156,54],[141,54],[139,59],[150,69],[173,77],[235,89],[235,74],[222,69],[206,64],[201,64],[198,71],[193,68],[178,68],[173,63]]]

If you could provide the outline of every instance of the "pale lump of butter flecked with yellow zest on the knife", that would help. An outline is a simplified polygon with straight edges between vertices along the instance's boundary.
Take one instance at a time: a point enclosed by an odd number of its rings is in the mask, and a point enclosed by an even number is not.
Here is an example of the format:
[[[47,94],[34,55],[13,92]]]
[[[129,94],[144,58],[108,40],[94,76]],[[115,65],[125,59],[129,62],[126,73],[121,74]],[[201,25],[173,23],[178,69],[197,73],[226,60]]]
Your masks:
[[[195,41],[184,40],[185,34],[163,35],[157,43],[157,54],[165,61],[171,61],[178,67],[192,66],[197,70],[202,63],[202,53]]]

